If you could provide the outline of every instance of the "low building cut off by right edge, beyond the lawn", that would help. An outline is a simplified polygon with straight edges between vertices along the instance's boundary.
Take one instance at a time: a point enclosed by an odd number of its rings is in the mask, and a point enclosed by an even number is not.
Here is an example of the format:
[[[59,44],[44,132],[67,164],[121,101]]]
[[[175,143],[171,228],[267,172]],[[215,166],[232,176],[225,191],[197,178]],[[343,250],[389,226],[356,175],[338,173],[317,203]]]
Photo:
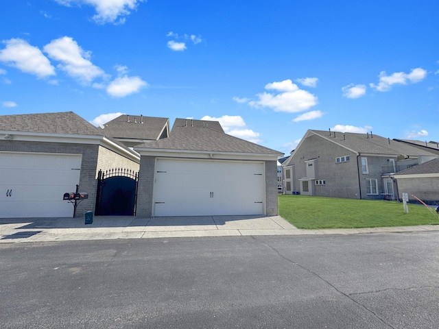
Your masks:
[[[439,205],[439,158],[418,164],[391,176],[398,182],[399,199],[407,193],[410,202],[418,197],[427,204]]]

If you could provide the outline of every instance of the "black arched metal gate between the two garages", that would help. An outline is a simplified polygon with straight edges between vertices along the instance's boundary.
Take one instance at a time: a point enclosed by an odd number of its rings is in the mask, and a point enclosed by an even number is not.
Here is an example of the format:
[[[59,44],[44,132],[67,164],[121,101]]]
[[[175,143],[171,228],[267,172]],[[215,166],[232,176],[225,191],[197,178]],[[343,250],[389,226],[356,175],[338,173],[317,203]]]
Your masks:
[[[96,216],[135,216],[139,173],[130,169],[99,170]]]

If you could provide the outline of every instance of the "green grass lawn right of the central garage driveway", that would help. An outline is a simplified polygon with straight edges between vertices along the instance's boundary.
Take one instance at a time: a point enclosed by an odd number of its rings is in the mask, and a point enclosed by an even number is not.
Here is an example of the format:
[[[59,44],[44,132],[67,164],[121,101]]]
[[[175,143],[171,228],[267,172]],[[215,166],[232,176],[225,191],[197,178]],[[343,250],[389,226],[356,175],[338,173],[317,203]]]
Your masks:
[[[279,215],[296,228],[377,228],[439,224],[436,212],[397,201],[279,195]]]

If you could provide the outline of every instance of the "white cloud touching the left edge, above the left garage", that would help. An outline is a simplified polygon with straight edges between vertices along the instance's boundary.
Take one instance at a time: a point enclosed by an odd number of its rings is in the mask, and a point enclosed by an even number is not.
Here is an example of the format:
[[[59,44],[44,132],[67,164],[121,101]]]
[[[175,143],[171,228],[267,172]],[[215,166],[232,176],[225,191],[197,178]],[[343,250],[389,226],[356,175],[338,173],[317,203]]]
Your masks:
[[[0,62],[38,78],[56,75],[54,66],[51,66],[47,57],[37,47],[19,38],[5,40],[3,43],[6,47],[0,51]]]

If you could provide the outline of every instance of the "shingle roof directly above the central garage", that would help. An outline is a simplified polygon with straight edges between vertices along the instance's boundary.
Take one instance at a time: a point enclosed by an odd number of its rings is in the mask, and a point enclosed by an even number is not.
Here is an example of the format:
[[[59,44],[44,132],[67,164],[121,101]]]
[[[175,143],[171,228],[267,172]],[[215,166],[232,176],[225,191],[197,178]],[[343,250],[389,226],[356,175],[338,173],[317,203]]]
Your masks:
[[[137,145],[134,149],[173,149],[248,154],[283,153],[225,134],[217,121],[176,119],[168,138]]]

